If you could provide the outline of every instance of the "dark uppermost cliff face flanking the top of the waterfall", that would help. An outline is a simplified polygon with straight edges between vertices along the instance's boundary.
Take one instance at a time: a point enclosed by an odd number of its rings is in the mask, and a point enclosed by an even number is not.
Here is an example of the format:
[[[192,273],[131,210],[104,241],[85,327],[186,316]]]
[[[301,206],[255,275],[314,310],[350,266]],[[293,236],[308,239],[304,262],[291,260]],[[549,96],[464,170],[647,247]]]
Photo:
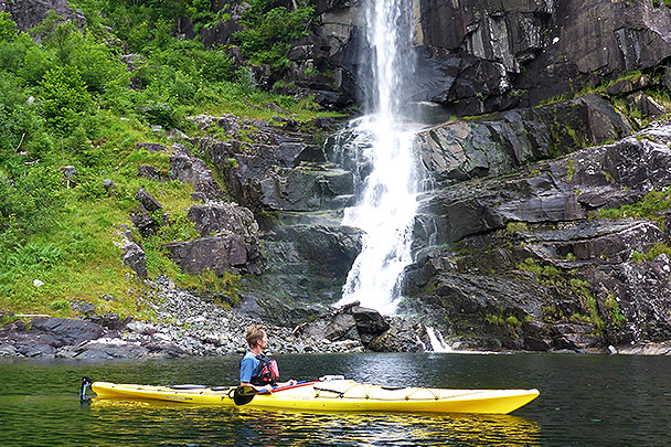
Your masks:
[[[318,34],[340,85],[362,98],[358,2],[321,2]],[[416,102],[478,115],[536,105],[600,78],[651,68],[671,54],[671,10],[662,3],[581,0],[415,2]],[[365,66],[364,66],[365,68]]]

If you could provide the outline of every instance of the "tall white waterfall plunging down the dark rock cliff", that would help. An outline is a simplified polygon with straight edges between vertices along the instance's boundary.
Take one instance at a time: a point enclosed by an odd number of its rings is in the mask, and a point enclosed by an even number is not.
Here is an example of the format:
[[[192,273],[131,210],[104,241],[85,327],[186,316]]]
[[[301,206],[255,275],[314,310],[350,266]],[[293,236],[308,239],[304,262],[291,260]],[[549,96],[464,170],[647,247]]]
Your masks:
[[[416,211],[414,129],[408,102],[414,71],[412,0],[369,0],[365,8],[371,82],[369,114],[350,124],[351,146],[361,175],[356,206],[345,210],[343,225],[365,232],[340,304],[359,300],[394,313],[398,279],[412,263],[412,224]]]

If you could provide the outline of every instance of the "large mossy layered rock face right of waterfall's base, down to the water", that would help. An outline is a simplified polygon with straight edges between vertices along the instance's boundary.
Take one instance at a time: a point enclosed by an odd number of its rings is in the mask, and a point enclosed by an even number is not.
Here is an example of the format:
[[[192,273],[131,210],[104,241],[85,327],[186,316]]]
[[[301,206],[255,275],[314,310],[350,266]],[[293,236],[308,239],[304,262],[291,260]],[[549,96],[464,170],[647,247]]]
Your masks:
[[[671,185],[670,139],[671,125],[660,123],[428,193],[416,225],[423,242],[415,241],[407,272],[407,294],[417,300],[404,306],[470,333],[452,339],[461,347],[478,347],[482,337],[543,351],[669,339],[668,211],[615,220],[596,213]]]

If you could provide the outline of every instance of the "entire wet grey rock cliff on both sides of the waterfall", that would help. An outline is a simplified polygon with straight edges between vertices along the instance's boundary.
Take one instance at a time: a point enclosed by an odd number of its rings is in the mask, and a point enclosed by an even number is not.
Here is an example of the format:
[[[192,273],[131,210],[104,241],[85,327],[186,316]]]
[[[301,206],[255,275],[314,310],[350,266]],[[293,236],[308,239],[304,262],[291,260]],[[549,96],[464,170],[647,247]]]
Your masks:
[[[336,108],[362,99],[361,6],[316,2],[315,34],[288,55],[284,81],[296,88],[287,93]],[[231,43],[244,2],[214,2],[224,7],[235,13],[202,31],[206,44]],[[24,29],[49,9],[78,17],[64,1],[0,2]],[[409,319],[329,309],[361,249],[361,232],[340,225],[342,210],[369,171],[334,162],[322,145],[337,129],[329,120],[203,115],[192,118],[201,134],[225,138],[193,139],[194,155],[143,147],[169,153],[170,173],[140,167],[140,175],[194,185],[189,219],[200,237],[169,244],[173,260],[194,274],[244,274],[232,302],[243,319],[309,320],[294,336],[356,349],[425,349],[424,323],[467,349],[665,345],[671,9],[648,0],[415,0],[414,12],[419,67],[408,109],[427,123],[415,148],[428,188],[405,273]],[[264,67],[253,74],[258,85],[270,82]],[[134,224],[156,231],[161,204],[142,191],[136,198]],[[125,233],[126,262],[146,275],[143,253]],[[84,330],[99,336],[98,327]]]

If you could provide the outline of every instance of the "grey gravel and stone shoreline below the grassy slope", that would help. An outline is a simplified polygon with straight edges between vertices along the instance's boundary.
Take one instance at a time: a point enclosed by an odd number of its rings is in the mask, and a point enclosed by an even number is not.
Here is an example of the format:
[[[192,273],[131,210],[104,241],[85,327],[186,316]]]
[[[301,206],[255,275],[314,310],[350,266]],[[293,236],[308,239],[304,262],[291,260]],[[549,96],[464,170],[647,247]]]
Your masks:
[[[177,288],[168,277],[159,276],[148,285],[149,291],[139,304],[153,311],[152,321],[124,323],[116,315],[17,320],[0,329],[0,358],[111,360],[241,354],[246,349],[245,331],[255,323],[268,328],[268,353],[364,350],[360,341],[301,337],[294,334],[292,328],[226,310]]]

